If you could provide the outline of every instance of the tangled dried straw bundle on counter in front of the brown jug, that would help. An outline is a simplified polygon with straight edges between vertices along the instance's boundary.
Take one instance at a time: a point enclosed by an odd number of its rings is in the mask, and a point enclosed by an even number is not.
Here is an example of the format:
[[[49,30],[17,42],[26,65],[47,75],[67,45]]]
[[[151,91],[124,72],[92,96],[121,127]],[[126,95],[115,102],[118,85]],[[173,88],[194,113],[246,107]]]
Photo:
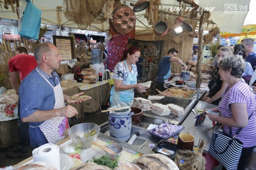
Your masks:
[[[205,158],[200,153],[189,150],[178,150],[174,163],[183,170],[204,170]]]

